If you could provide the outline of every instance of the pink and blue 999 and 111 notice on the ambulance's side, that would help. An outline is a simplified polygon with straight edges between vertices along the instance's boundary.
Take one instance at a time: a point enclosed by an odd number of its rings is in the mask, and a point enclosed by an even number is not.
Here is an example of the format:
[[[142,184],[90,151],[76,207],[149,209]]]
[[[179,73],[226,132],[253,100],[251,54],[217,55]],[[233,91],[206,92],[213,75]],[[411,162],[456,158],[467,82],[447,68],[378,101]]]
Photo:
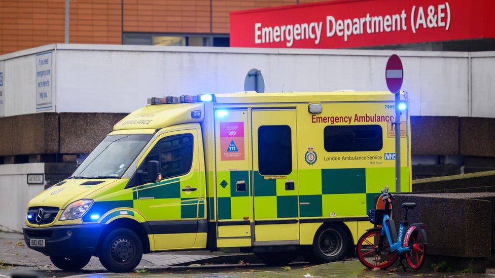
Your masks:
[[[244,160],[244,123],[220,123],[220,160]]]

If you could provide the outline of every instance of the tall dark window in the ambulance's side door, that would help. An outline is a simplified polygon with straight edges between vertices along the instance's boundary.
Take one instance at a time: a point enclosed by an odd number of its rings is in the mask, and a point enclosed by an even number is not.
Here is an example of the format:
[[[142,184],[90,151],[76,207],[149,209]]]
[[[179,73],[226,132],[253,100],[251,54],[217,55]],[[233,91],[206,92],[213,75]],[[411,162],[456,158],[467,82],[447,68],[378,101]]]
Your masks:
[[[289,126],[261,126],[258,129],[258,168],[261,175],[288,175],[292,172]]]

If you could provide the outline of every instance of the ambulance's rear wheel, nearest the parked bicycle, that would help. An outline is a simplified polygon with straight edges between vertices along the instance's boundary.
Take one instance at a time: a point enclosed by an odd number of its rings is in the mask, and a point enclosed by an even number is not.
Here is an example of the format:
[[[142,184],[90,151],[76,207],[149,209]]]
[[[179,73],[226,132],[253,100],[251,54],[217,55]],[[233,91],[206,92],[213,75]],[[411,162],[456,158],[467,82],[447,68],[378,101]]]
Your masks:
[[[342,226],[324,225],[316,231],[313,244],[303,250],[303,256],[313,264],[341,261],[348,253],[349,240]]]

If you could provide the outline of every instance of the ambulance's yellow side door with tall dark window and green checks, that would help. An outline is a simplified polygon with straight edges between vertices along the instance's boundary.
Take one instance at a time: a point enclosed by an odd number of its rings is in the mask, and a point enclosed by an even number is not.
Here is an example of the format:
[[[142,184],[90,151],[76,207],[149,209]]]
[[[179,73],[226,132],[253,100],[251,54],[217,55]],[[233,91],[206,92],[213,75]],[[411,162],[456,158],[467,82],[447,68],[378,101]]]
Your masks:
[[[253,109],[254,245],[299,243],[295,109]]]

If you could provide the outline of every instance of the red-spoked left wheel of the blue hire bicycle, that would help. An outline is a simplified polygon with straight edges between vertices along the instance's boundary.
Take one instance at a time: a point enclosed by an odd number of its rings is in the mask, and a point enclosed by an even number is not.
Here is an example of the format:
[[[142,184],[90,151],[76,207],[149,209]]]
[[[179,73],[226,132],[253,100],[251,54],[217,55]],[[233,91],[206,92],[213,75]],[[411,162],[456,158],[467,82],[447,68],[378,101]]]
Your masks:
[[[376,253],[378,249],[378,239],[380,237],[381,230],[370,230],[363,234],[356,246],[359,261],[368,268],[378,267],[385,269],[393,265],[398,258],[398,254],[390,253],[390,244],[388,243],[386,236],[383,240],[383,248],[380,253]]]

